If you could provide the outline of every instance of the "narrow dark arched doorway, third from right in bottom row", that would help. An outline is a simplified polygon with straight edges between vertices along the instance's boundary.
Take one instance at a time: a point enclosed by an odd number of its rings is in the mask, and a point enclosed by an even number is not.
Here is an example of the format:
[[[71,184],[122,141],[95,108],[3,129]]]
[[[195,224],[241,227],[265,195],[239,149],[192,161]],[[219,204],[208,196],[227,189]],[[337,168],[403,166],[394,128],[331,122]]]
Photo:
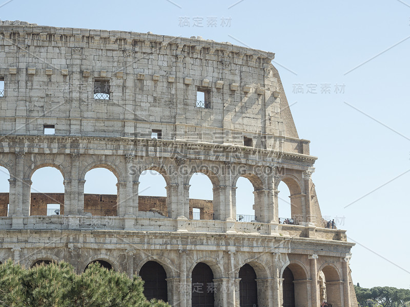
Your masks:
[[[258,287],[255,270],[248,264],[239,270],[240,307],[258,307]]]

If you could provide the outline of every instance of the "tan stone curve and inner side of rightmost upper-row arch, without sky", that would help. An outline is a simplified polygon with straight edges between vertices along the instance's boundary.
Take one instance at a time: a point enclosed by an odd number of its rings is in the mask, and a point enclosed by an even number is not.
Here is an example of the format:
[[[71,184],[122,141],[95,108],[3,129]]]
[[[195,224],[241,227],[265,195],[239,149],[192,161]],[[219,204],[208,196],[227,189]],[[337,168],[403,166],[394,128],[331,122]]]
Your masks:
[[[303,222],[306,222],[306,209],[304,207],[305,201],[304,201],[304,195],[302,194],[302,184],[300,180],[292,174],[285,174],[284,176],[281,176],[275,182],[275,190],[278,190],[278,186],[280,182],[283,182],[289,188],[291,217],[294,220],[294,224],[299,225]],[[278,195],[277,193],[275,193],[275,211],[276,212],[279,212],[278,203],[279,203]]]

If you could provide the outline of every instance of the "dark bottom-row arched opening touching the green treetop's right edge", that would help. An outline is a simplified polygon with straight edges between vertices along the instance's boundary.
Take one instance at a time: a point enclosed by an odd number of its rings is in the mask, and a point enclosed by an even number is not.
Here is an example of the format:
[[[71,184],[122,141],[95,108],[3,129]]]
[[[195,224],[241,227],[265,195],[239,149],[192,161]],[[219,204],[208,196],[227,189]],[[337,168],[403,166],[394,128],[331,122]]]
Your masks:
[[[139,270],[139,276],[144,280],[144,295],[148,300],[168,301],[167,273],[158,262],[146,262]]]

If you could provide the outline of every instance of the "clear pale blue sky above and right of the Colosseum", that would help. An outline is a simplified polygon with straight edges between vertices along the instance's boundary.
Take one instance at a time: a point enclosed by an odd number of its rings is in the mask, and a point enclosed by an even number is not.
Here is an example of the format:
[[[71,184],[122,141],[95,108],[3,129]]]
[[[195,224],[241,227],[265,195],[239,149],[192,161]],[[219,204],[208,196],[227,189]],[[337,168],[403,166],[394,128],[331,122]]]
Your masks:
[[[13,0],[0,18],[200,35],[275,52],[299,137],[311,140],[319,157],[313,181],[322,214],[339,217],[359,243],[354,282],[409,288],[410,0],[172,2]],[[240,210],[249,213],[252,195],[241,199]]]

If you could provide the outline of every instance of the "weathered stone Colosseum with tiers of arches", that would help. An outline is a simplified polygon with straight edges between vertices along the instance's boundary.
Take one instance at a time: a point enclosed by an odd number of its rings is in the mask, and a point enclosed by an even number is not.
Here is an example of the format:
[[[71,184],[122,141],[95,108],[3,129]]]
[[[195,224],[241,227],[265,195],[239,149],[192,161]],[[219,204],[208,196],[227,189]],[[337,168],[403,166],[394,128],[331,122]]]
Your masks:
[[[201,37],[0,21],[0,166],[10,174],[0,261],[65,260],[77,272],[98,261],[175,307],[357,306],[354,244],[325,227],[317,158],[273,59]],[[33,173],[50,166],[64,193],[31,193]],[[85,194],[100,167],[115,174],[116,195]],[[165,179],[166,197],[138,195],[146,170]],[[197,172],[213,201],[190,199]],[[251,219],[236,210],[240,177],[254,188]]]

